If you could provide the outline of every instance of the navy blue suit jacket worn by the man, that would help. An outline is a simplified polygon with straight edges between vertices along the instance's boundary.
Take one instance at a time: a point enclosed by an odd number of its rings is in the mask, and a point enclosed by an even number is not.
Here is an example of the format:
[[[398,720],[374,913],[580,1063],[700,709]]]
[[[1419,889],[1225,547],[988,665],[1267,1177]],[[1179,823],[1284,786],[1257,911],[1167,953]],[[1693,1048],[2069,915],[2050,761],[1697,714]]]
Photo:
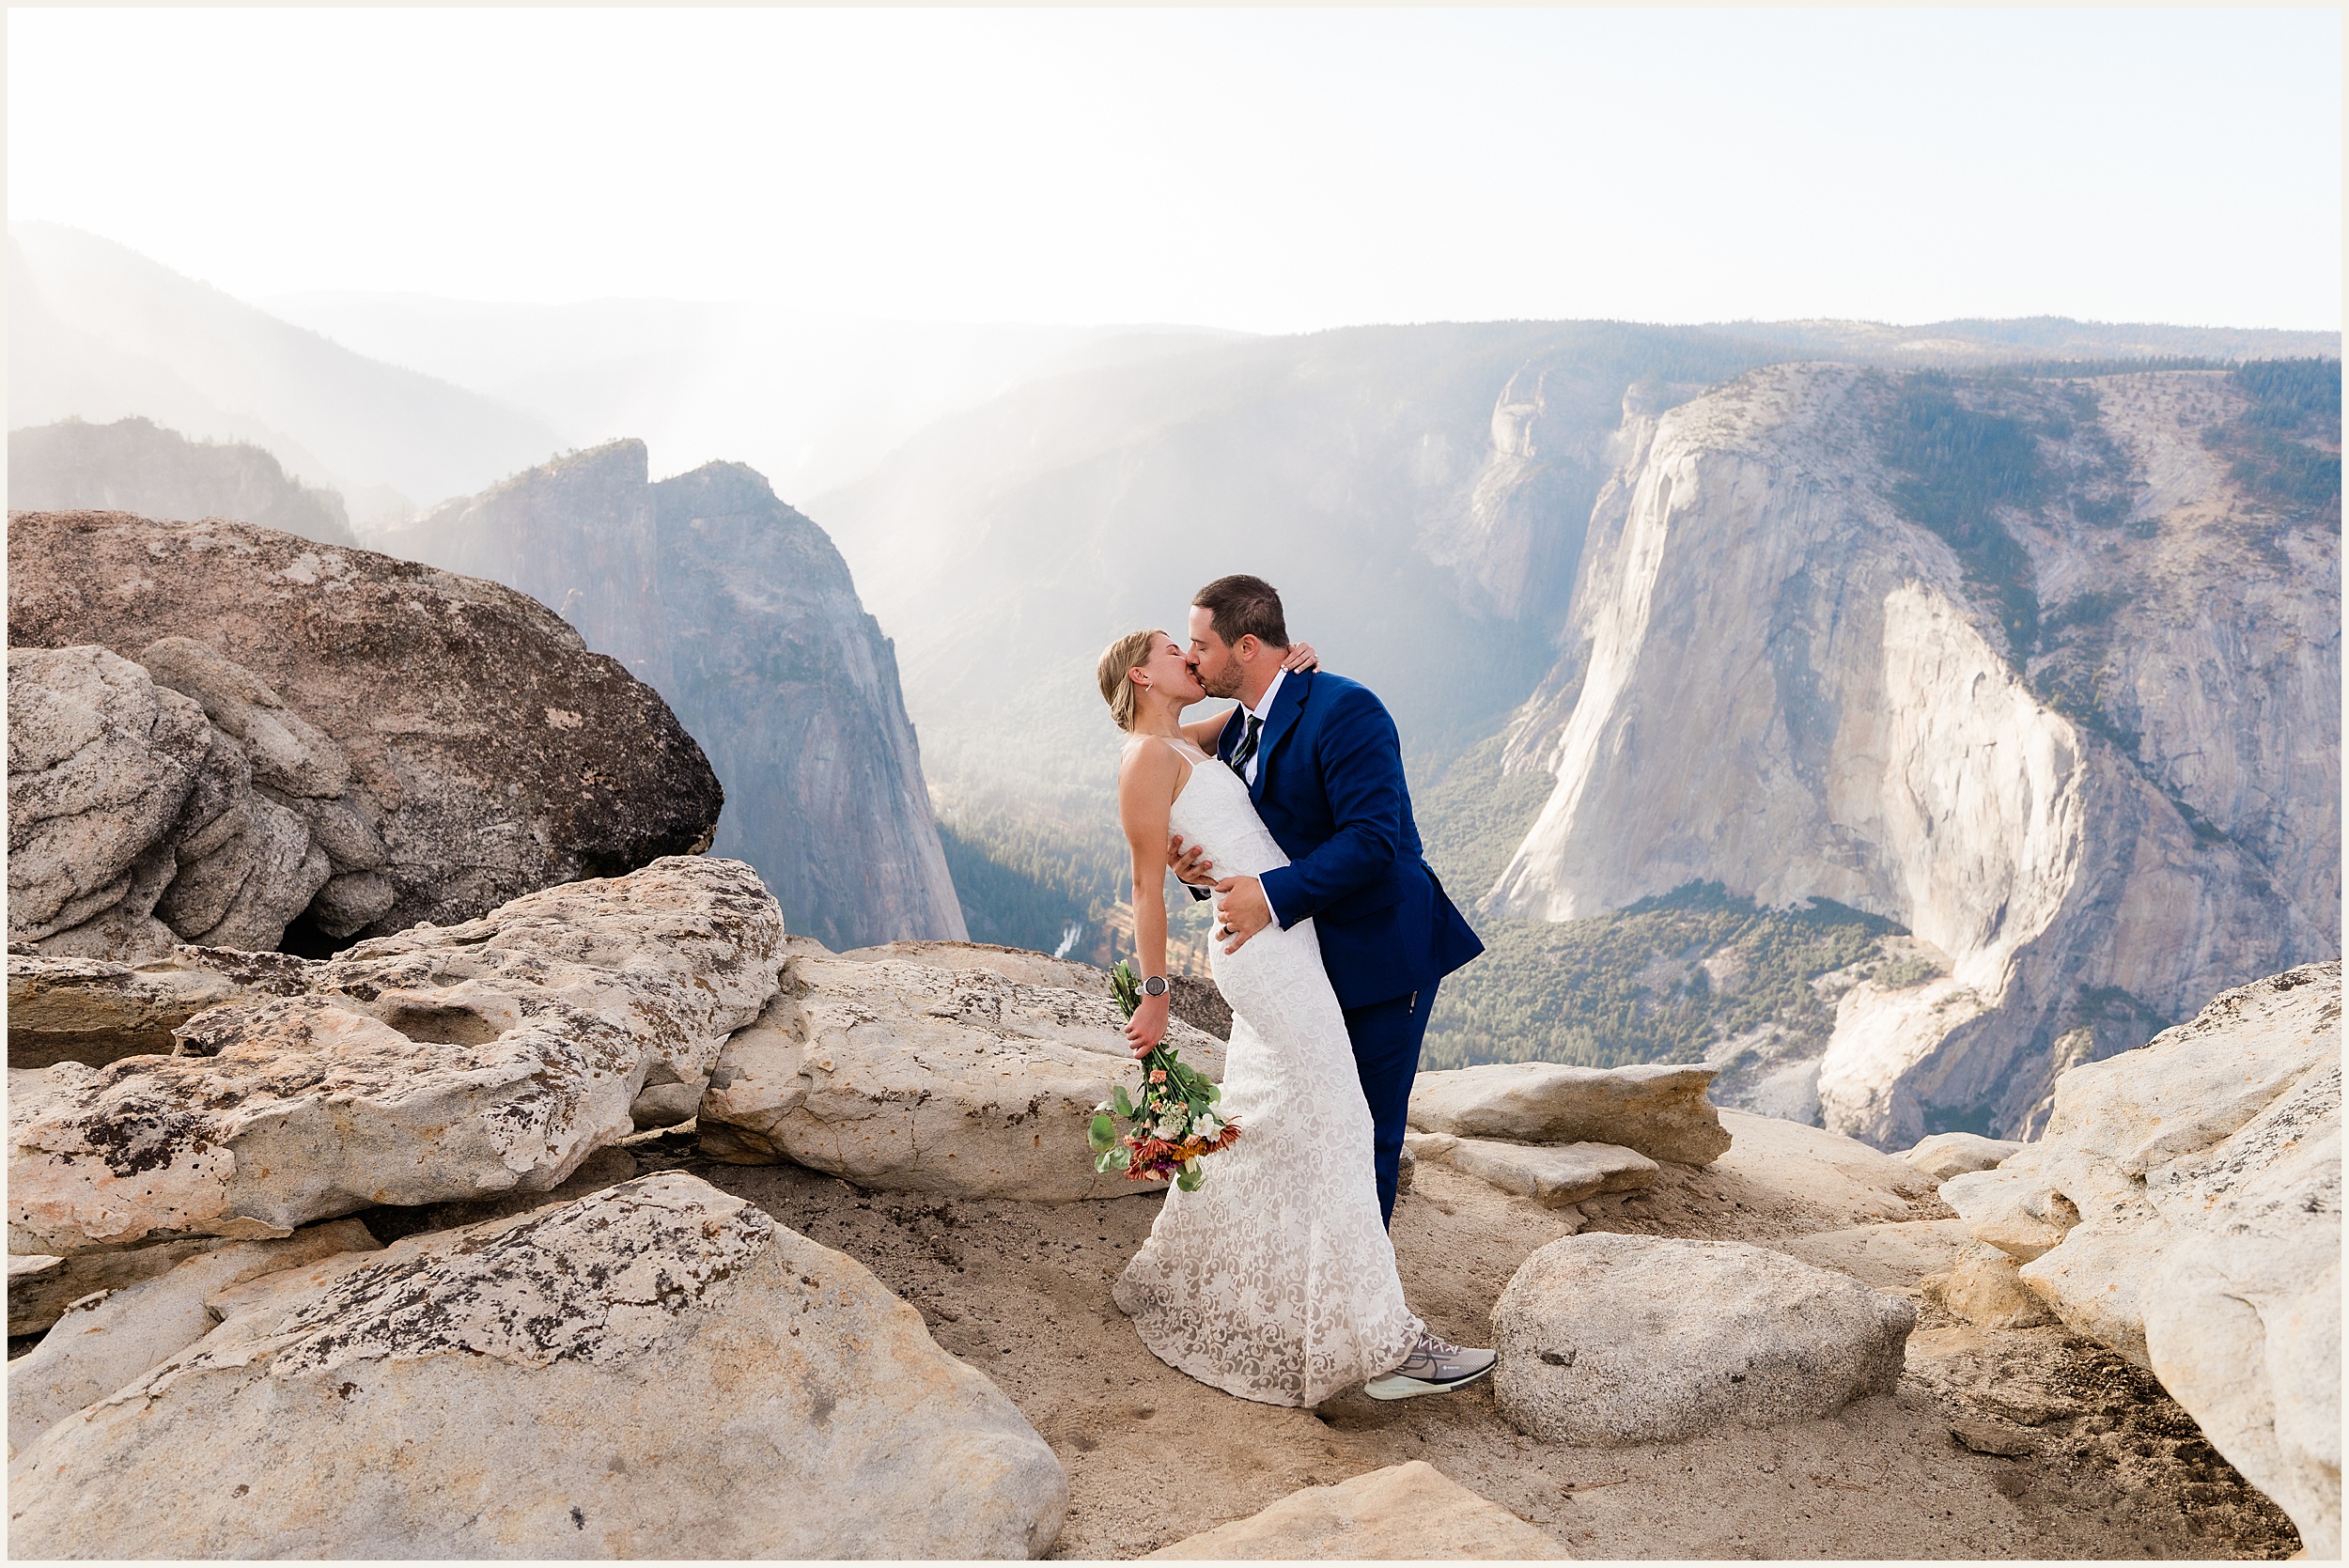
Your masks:
[[[1247,730],[1233,709],[1214,753]],[[1283,930],[1313,920],[1341,1007],[1433,986],[1485,951],[1419,850],[1402,742],[1367,685],[1315,669],[1290,674],[1257,737],[1250,796],[1290,857],[1264,894]]]

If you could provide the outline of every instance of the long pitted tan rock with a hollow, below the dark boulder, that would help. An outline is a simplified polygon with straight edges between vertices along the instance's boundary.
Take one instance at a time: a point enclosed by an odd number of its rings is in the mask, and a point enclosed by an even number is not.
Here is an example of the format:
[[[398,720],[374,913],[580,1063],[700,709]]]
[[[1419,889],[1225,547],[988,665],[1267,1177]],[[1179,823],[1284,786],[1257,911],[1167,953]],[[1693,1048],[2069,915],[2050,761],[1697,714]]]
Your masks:
[[[782,911],[707,857],[571,883],[298,965],[179,1056],[14,1073],[12,1251],[282,1237],[373,1204],[545,1192],[634,1131],[653,1073],[705,1080],[775,991]]]

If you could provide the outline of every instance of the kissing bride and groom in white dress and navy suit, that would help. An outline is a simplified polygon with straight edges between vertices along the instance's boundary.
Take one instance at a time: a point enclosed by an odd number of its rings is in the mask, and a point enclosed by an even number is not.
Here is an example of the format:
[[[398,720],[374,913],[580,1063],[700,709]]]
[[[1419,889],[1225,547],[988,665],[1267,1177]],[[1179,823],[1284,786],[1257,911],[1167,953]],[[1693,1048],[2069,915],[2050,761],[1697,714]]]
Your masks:
[[[1097,678],[1128,732],[1137,1056],[1165,1035],[1165,873],[1214,899],[1221,1113],[1247,1136],[1170,1190],[1116,1286],[1151,1352],[1264,1404],[1440,1394],[1492,1371],[1402,1300],[1388,1223],[1438,981],[1482,951],[1421,859],[1386,707],[1290,646],[1280,594],[1217,577],[1189,641],[1135,631]],[[1207,697],[1236,707],[1184,723]]]

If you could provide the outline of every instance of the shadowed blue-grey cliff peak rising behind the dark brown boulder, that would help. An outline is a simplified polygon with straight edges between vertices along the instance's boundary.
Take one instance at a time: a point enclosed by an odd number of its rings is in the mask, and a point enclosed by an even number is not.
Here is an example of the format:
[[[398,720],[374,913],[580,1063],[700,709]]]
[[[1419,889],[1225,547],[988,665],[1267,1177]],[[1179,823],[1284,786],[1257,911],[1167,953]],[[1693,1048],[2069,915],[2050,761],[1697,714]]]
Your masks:
[[[507,582],[658,688],[709,751],[747,859],[832,946],[965,937],[897,655],[824,530],[747,467],[646,481],[613,441],[449,502],[383,545]]]

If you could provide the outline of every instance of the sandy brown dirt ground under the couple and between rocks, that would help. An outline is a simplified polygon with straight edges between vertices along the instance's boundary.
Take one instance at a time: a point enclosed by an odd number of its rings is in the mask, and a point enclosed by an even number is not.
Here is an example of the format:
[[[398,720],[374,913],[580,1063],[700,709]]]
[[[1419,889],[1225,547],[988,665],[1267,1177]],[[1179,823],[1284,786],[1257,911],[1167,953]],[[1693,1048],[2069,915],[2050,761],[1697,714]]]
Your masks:
[[[1729,1120],[1738,1148],[1722,1162],[1665,1167],[1651,1192],[1586,1204],[1586,1228],[1783,1246],[1910,1298],[1961,1244],[1931,1183],[1896,1190],[1867,1150],[1853,1160],[1811,1129]],[[1402,1460],[1428,1460],[1593,1559],[2213,1559],[2300,1545],[2152,1378],[2062,1329],[1990,1333],[1919,1303],[1891,1397],[1687,1444],[1567,1448],[1522,1437],[1487,1385],[1398,1404],[1346,1392],[1294,1411],[1163,1366],[1109,1298],[1156,1197],[942,1202],[709,1162],[691,1136],[634,1153],[749,1197],[921,1307],[937,1343],[991,1376],[1066,1465],[1062,1559],[1139,1556]],[[1574,1211],[1421,1164],[1395,1216],[1405,1291],[1438,1333],[1487,1343],[1517,1263],[1574,1225]],[[2032,1453],[1973,1453],[1952,1439],[1957,1420],[1994,1422]]]

